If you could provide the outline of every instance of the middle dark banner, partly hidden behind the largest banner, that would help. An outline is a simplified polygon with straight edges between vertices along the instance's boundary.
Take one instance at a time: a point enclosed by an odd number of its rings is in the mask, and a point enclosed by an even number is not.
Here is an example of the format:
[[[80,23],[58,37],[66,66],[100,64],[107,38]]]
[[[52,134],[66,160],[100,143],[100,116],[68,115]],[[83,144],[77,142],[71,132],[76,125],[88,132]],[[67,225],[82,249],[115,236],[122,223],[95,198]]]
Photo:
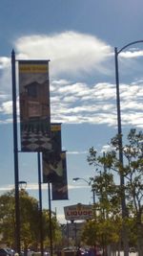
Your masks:
[[[63,176],[61,124],[51,124],[52,151],[43,151],[43,182],[57,182]]]

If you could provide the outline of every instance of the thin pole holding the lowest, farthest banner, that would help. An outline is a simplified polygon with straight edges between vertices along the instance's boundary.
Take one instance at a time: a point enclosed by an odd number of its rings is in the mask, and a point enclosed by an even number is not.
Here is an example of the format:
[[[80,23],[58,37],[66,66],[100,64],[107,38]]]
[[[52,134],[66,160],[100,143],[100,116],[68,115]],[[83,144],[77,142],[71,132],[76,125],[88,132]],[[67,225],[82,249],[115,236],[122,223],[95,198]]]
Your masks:
[[[49,214],[50,214],[50,242],[51,242],[51,256],[53,255],[52,252],[52,225],[51,225],[51,183],[48,182],[48,196],[49,196]]]

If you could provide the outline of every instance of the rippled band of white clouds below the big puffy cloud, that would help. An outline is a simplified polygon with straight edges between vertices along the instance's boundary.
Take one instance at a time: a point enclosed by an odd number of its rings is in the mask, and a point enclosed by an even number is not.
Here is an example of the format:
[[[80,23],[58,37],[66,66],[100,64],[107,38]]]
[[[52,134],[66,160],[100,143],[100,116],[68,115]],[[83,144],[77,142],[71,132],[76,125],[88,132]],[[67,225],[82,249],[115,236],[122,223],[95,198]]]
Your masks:
[[[116,127],[116,95],[113,84],[51,81],[51,122],[105,124]],[[57,86],[57,84],[60,84]],[[63,83],[62,83],[63,84]],[[84,93],[85,91],[85,93]],[[142,85],[120,84],[122,125],[143,127]],[[2,103],[0,111],[10,115],[11,101]],[[3,121],[4,122],[4,121]]]

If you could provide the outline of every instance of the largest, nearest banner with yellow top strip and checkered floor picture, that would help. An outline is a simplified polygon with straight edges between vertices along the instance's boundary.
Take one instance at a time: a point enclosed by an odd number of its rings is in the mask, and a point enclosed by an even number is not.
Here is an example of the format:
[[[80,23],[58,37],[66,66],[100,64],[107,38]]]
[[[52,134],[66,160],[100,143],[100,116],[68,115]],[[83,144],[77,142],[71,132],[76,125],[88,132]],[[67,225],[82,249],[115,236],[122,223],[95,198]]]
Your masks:
[[[51,150],[48,60],[19,60],[21,151]]]

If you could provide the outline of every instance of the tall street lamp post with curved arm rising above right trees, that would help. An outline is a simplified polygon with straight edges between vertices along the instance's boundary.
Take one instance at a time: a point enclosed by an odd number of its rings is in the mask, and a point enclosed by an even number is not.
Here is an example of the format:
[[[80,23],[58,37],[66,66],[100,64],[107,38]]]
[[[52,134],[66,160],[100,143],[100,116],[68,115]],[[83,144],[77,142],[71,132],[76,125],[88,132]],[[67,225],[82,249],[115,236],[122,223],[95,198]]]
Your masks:
[[[142,42],[143,42],[143,40],[133,41],[131,43],[126,44],[120,50],[118,50],[117,47],[114,48],[119,162],[121,163],[121,166],[123,166],[123,151],[122,151],[122,126],[121,126],[121,110],[120,110],[118,56],[127,47],[132,46],[133,44],[142,43]],[[122,219],[124,219],[127,216],[124,185],[125,185],[124,175],[120,175],[120,187],[121,187],[121,191],[122,191],[122,196],[121,196]],[[128,256],[129,248],[128,248],[128,241],[127,241],[127,234],[126,234],[126,232],[123,232],[123,234],[124,234],[124,238],[123,238],[124,253],[125,253],[125,256]]]

